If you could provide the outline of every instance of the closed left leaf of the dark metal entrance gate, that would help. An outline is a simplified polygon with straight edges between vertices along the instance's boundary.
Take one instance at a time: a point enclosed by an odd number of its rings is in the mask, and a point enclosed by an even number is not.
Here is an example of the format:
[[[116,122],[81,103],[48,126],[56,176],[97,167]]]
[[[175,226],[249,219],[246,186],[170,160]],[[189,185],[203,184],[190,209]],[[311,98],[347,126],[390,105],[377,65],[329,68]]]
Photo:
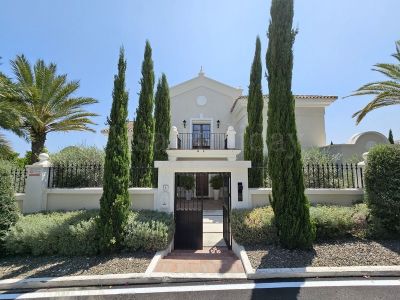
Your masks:
[[[195,197],[196,173],[175,173],[175,249],[203,248],[203,199]]]

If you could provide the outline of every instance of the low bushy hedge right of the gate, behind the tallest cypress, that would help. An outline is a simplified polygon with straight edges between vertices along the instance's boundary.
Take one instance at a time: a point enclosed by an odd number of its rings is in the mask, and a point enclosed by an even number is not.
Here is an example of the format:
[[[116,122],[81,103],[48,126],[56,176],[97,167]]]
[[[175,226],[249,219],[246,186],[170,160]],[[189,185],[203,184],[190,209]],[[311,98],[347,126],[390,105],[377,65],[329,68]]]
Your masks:
[[[317,206],[310,208],[317,239],[338,239],[367,234],[369,210],[365,204],[353,207]],[[274,213],[270,206],[232,211],[232,234],[243,245],[272,244],[278,241]]]

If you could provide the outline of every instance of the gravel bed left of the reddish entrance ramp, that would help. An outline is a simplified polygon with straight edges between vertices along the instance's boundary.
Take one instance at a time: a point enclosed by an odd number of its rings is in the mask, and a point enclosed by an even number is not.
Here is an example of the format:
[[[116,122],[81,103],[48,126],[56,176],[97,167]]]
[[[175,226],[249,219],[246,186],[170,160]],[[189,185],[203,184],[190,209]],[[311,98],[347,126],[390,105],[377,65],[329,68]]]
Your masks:
[[[143,273],[154,253],[107,256],[16,256],[0,259],[0,279]]]

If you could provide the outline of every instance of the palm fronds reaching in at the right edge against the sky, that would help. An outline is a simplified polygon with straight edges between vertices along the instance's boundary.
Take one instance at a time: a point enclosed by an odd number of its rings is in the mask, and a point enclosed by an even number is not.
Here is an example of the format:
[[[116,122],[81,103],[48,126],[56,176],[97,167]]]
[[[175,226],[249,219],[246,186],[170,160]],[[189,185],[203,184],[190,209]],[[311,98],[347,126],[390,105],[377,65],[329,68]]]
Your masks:
[[[370,103],[353,115],[353,118],[357,117],[357,124],[374,109],[400,104],[400,41],[396,42],[396,53],[392,56],[399,61],[398,64],[382,63],[376,64],[375,68],[373,68],[374,71],[389,77],[388,80],[368,83],[350,95],[375,95],[375,98]]]

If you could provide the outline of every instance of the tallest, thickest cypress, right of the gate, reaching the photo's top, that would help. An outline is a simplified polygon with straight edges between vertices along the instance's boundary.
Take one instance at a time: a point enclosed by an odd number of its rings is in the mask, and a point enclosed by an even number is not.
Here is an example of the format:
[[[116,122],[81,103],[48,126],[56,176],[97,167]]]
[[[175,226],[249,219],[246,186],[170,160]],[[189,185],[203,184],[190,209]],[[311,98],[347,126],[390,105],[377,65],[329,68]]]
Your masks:
[[[270,202],[281,244],[289,249],[310,248],[315,228],[304,195],[301,148],[297,139],[292,94],[293,0],[272,0],[268,70],[268,169],[272,179]]]

